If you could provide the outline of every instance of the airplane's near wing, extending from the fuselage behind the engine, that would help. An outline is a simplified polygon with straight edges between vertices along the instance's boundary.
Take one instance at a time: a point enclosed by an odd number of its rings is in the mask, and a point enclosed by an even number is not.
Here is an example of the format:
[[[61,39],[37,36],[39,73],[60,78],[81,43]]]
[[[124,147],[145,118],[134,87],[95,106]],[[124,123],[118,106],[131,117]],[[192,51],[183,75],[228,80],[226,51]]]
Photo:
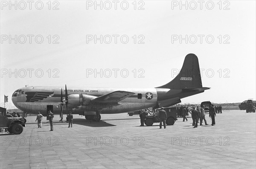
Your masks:
[[[108,93],[103,96],[99,96],[95,99],[92,99],[91,101],[95,103],[118,103],[119,101],[126,99],[134,94],[135,93],[133,92],[114,91],[112,93]]]

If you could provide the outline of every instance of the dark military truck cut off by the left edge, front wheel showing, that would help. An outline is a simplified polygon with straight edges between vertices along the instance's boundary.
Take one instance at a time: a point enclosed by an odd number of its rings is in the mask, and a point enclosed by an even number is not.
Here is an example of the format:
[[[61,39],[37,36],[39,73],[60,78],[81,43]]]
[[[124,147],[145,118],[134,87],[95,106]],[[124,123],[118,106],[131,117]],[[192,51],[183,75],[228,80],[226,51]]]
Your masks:
[[[6,109],[0,107],[0,129],[7,130],[9,133],[20,134],[25,127],[22,117],[7,117]]]

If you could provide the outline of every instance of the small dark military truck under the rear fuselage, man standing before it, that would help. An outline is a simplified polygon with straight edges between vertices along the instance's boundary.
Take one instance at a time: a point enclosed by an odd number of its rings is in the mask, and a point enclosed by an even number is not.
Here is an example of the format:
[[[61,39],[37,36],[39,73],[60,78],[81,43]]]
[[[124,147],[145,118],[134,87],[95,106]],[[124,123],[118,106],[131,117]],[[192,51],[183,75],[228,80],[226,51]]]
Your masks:
[[[151,112],[151,115],[147,115],[145,118],[145,125],[152,126],[154,123],[159,123],[160,119],[158,117],[160,109],[157,109],[155,112]],[[175,121],[177,120],[177,109],[176,107],[165,107],[164,110],[166,111],[167,119],[166,124],[167,125],[173,125]]]

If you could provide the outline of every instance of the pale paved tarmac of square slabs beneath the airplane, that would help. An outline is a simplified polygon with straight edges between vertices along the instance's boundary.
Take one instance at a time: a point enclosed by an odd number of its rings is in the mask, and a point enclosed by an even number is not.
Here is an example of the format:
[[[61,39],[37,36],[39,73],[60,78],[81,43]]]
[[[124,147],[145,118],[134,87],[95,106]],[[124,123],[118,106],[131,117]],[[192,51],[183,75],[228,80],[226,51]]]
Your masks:
[[[215,126],[192,128],[192,118],[173,126],[140,127],[139,115],[103,114],[102,121],[74,115],[73,127],[54,118],[27,117],[20,135],[1,133],[1,169],[62,168],[256,168],[256,113],[217,114]],[[207,122],[211,124],[209,116]]]

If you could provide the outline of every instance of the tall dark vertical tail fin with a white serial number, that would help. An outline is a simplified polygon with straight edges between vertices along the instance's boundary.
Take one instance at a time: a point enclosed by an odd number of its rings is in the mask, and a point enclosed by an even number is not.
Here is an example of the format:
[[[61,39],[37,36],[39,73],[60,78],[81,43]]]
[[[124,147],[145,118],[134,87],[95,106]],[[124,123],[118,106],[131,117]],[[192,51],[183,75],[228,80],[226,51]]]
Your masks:
[[[185,57],[180,73],[171,82],[157,88],[188,89],[202,88],[202,80],[198,57],[195,54],[188,54]]]

